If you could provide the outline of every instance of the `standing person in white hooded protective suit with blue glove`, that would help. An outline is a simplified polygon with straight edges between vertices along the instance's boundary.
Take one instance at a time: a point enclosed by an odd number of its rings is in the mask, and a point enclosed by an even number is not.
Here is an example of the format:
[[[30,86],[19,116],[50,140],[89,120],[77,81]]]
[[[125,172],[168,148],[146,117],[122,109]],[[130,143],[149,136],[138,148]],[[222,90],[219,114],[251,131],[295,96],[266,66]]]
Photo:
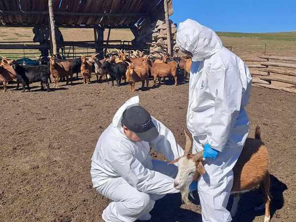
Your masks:
[[[252,76],[211,29],[191,19],[180,23],[177,44],[192,57],[187,128],[193,153],[204,150],[206,174],[198,181],[203,222],[228,222],[226,205],[234,167],[249,133],[247,105]]]

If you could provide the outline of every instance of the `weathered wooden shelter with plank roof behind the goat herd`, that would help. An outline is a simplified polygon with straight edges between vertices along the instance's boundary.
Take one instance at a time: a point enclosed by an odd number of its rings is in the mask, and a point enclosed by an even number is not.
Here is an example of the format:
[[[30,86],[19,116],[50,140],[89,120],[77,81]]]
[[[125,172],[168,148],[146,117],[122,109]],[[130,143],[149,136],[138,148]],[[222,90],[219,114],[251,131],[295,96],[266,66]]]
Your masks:
[[[58,28],[94,29],[94,42],[77,42],[77,45],[102,52],[109,47],[109,39],[104,41],[104,29],[130,29],[137,38],[142,30],[165,18],[164,1],[167,1],[169,15],[173,14],[172,0],[52,0],[54,24]],[[49,28],[48,0],[0,0],[0,26]],[[37,47],[28,43],[9,46],[2,43],[0,49]],[[52,44],[48,43],[40,43],[38,48],[50,45],[52,51]],[[124,46],[122,43],[112,45]]]

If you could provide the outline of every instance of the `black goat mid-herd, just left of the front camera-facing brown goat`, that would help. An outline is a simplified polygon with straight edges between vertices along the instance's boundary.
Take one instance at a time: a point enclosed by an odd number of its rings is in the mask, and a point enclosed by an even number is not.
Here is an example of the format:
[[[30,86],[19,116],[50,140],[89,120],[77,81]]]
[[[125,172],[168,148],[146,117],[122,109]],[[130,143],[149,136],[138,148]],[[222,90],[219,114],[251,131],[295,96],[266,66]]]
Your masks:
[[[125,77],[126,65],[123,63],[104,62],[101,68],[107,69],[109,71],[112,80],[112,86],[114,86],[114,80],[116,80],[117,86],[119,86],[119,84],[121,83],[121,77]]]

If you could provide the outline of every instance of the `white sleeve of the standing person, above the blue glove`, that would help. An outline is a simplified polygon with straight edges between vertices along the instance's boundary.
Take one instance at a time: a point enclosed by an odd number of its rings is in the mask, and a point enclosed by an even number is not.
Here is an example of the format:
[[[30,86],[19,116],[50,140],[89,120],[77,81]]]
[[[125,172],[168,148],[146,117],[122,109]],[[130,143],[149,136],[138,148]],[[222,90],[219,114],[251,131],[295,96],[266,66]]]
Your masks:
[[[208,85],[215,101],[215,112],[208,126],[207,141],[211,148],[223,151],[241,107],[243,87],[239,69],[211,70]]]

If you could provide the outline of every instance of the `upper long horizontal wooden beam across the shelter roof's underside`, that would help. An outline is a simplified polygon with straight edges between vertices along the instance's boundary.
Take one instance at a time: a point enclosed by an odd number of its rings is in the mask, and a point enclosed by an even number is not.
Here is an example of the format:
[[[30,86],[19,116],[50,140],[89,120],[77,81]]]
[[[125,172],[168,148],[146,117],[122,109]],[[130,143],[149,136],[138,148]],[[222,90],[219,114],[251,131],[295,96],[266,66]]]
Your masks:
[[[48,11],[42,11],[42,10],[1,10],[1,14],[8,14],[8,15],[22,15],[22,14],[35,14],[35,15],[46,15],[48,14]],[[71,11],[54,11],[55,15],[66,15],[66,16],[103,16],[103,17],[123,17],[123,16],[148,16],[148,12],[129,12],[129,13],[90,13],[90,12],[71,12]]]

